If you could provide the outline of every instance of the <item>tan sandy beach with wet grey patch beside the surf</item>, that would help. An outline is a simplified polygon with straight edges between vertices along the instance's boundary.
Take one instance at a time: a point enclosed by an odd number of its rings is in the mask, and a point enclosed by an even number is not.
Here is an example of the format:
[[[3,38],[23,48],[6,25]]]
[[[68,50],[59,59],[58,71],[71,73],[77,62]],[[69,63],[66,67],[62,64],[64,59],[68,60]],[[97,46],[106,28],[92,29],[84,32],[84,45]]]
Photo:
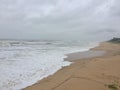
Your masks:
[[[73,63],[24,90],[120,90],[120,44],[104,42],[65,60]]]

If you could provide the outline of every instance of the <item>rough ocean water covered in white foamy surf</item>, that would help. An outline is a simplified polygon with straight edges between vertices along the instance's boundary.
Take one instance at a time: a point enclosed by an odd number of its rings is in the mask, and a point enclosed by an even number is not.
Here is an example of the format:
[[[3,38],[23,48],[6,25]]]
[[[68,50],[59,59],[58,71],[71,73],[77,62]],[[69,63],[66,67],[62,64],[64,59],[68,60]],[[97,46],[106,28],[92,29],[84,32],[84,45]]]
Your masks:
[[[20,90],[71,62],[65,54],[87,51],[97,43],[80,41],[0,41],[0,90]]]

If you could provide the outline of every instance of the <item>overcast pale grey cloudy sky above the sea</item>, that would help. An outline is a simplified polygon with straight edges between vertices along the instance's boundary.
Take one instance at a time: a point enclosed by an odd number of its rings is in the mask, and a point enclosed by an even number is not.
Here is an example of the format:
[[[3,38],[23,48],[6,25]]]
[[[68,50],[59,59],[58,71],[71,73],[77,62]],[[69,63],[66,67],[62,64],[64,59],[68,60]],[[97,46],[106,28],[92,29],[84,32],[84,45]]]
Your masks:
[[[0,0],[0,39],[120,36],[120,0]]]

